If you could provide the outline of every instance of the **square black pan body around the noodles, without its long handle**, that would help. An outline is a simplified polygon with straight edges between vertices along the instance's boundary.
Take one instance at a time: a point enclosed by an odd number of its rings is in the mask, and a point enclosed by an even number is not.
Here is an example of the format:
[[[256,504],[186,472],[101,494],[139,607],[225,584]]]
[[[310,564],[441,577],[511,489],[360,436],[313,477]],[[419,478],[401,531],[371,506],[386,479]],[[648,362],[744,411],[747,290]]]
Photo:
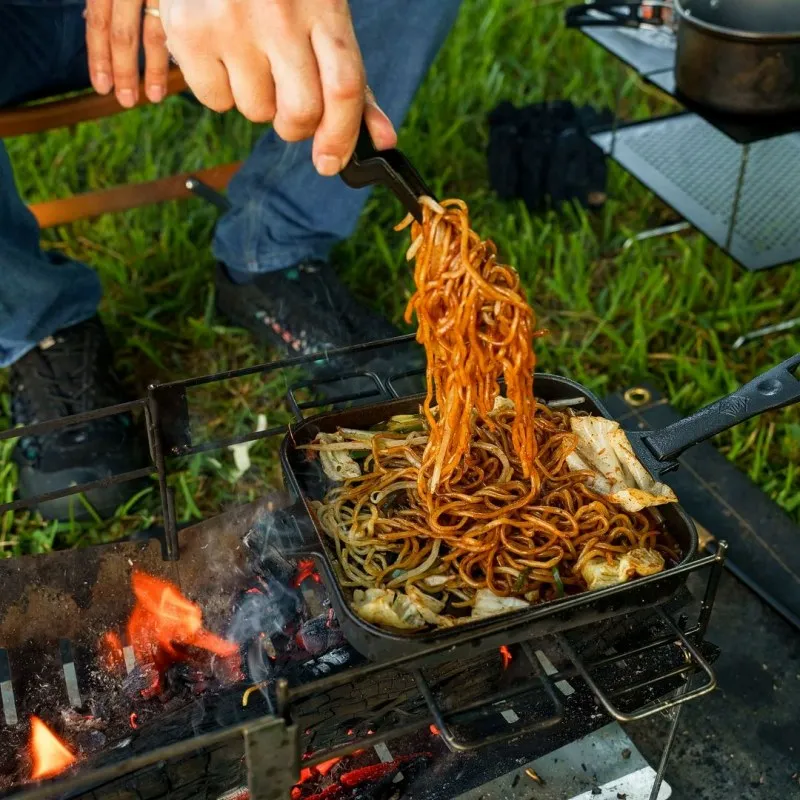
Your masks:
[[[539,400],[551,402],[583,397],[584,402],[579,406],[581,410],[613,419],[591,392],[574,381],[555,375],[537,374],[535,383]],[[501,645],[538,638],[664,603],[686,582],[687,571],[684,568],[696,556],[697,531],[678,504],[669,504],[659,506],[659,510],[682,556],[678,564],[657,575],[455,628],[422,632],[390,631],[362,620],[350,606],[350,590],[339,585],[333,568],[336,554],[329,546],[328,537],[310,506],[312,500],[323,498],[327,480],[319,461],[309,460],[307,451],[299,450],[298,446],[309,444],[320,432],[332,433],[344,427],[368,429],[395,414],[416,413],[422,399],[422,396],[402,398],[320,414],[293,426],[281,446],[284,479],[295,497],[294,504],[285,513],[287,522],[302,542],[294,549],[293,555],[315,560],[344,635],[364,656],[384,662],[418,655],[419,658],[413,659],[413,663],[404,664],[415,667],[469,657]]]

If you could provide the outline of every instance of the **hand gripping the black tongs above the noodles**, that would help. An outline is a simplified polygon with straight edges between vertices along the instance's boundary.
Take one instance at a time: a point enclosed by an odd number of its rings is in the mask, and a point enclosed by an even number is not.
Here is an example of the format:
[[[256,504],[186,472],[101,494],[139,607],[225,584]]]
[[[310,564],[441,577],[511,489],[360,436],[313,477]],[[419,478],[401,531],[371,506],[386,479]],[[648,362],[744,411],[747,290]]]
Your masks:
[[[347,163],[362,117],[378,149],[397,142],[366,85],[347,0],[160,0],[160,11],[197,99],[271,121],[289,142],[313,136],[321,175]]]

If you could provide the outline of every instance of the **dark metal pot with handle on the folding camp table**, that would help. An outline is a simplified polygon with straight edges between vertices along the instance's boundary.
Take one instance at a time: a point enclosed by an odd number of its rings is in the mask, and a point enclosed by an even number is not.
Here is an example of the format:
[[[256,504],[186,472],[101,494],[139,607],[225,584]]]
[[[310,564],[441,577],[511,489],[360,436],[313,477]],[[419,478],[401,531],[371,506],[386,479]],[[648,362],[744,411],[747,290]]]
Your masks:
[[[567,25],[671,24],[676,87],[689,101],[733,114],[800,110],[798,0],[673,0],[673,15],[664,13],[666,5],[603,0],[572,6]],[[645,18],[646,9],[660,10]]]

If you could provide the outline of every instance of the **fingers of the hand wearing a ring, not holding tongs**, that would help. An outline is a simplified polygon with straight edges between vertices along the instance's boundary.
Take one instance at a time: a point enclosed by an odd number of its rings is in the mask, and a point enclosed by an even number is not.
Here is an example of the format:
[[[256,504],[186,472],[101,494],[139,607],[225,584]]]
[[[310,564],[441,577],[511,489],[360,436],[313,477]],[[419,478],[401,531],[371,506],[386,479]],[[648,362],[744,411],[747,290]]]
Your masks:
[[[152,0],[151,0],[152,2]],[[169,52],[161,20],[147,14],[144,0],[86,0],[86,49],[95,91],[112,89],[124,108],[139,101],[139,42],[144,43],[145,94],[158,103],[167,93]]]

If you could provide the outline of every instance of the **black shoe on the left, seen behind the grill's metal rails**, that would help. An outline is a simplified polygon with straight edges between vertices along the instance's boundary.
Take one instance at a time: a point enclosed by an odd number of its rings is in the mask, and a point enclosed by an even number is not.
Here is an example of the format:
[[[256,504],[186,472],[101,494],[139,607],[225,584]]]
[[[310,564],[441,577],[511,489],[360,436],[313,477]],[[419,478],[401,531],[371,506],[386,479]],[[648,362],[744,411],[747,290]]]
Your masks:
[[[111,344],[96,317],[58,331],[12,366],[12,422],[31,425],[124,402],[112,360]],[[128,414],[26,436],[14,450],[14,461],[19,467],[19,495],[24,499],[149,463]],[[94,489],[86,493],[86,499],[100,516],[109,517],[145,485],[142,479]],[[37,508],[47,519],[90,516],[77,495]]]

